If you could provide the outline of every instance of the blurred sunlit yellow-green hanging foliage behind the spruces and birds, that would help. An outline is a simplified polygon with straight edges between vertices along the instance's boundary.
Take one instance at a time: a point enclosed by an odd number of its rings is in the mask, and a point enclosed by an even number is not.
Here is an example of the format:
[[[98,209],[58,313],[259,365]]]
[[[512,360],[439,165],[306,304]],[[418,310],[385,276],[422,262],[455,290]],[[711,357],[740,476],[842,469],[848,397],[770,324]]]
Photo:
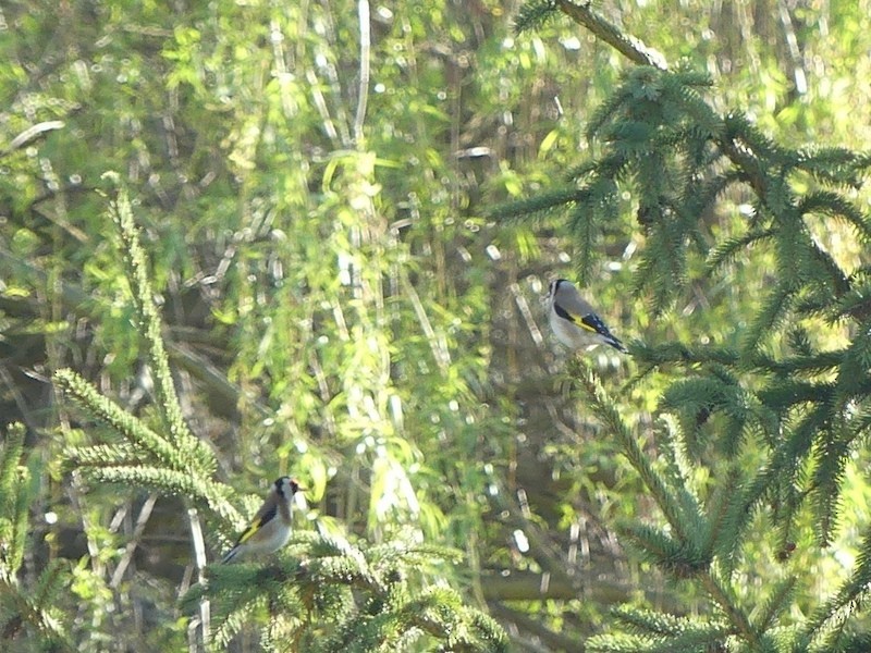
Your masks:
[[[670,61],[707,71],[709,100],[740,108],[774,139],[871,143],[864,0],[597,9]],[[712,279],[696,261],[686,291],[657,313],[631,292],[643,242],[628,197],[582,271],[560,217],[487,218],[584,160],[584,127],[628,66],[567,20],[515,35],[516,10],[492,0],[0,7],[0,419],[26,426],[26,469],[39,481],[20,577],[37,583],[69,560],[62,608],[78,650],[179,645],[186,625],[174,601],[193,569],[177,500],[159,498],[138,527],[147,492],[84,488],[59,464],[95,435],[56,402],[54,370],[75,369],[146,420],[152,412],[98,192],[110,170],[135,200],[180,401],[220,480],[259,494],[291,472],[309,488],[309,521],[376,544],[412,528],[461,550],[446,578],[517,650],[580,650],[627,601],[692,609],[691,587],[665,583],[616,541],[610,525],[651,506],[585,407],[562,394],[564,352],[540,297],[550,279],[582,272],[624,340],[737,346],[771,260],[739,258]],[[704,217],[712,244],[743,220],[743,199],[728,201]],[[849,232],[826,225],[818,237],[848,269],[863,262]],[[812,326],[832,345],[844,337]],[[624,418],[651,422],[668,370],[627,384],[630,360],[590,359]],[[819,583],[809,593],[854,562],[869,494],[867,460],[855,463],[838,540],[821,551],[808,519],[792,555]],[[761,569],[778,555],[764,544],[753,553]]]

